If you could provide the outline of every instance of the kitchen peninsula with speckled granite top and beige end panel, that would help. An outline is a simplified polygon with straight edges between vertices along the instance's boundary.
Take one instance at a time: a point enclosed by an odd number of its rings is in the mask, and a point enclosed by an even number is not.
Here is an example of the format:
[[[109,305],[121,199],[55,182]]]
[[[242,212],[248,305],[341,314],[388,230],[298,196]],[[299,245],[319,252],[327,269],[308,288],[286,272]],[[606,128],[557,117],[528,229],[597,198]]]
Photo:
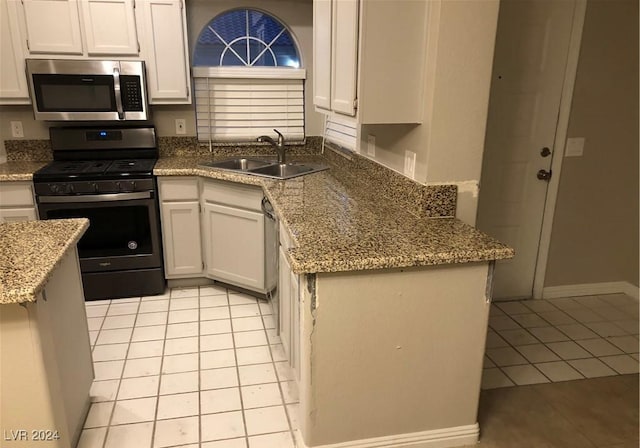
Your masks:
[[[331,150],[295,158],[328,171],[286,181],[202,160],[161,158],[154,173],[262,186],[278,217],[298,446],[476,443],[492,267],[513,250],[454,218],[455,186]]]

